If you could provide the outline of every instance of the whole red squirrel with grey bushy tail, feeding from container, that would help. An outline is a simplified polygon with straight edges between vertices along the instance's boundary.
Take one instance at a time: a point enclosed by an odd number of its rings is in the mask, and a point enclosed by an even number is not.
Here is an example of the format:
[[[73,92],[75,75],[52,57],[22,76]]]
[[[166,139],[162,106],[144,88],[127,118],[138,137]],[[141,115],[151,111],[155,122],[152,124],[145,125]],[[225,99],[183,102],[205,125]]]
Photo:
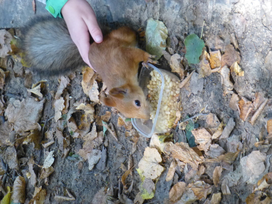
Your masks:
[[[157,61],[136,45],[136,33],[121,27],[106,35],[102,43],[90,45],[89,61],[109,90],[102,103],[115,107],[128,118],[149,119],[148,102],[137,73],[141,61],[143,65]],[[39,74],[65,74],[85,64],[63,20],[44,19],[29,26],[23,50],[27,63]]]

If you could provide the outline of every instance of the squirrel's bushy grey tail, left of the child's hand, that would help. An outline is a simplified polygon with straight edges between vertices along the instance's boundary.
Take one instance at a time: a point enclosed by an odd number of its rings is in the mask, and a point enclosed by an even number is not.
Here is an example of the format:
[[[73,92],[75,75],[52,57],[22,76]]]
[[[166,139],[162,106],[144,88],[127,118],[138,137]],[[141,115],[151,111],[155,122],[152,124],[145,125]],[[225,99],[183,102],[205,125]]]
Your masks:
[[[40,75],[62,75],[86,65],[63,19],[42,19],[25,30],[24,60]]]

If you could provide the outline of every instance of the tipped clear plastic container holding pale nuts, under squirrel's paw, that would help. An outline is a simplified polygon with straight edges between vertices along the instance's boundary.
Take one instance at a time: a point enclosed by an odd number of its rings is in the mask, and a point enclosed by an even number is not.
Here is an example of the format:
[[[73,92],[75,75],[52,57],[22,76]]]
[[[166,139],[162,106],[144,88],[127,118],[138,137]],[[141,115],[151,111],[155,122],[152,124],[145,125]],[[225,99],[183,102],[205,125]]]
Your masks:
[[[139,76],[139,84],[150,103],[150,119],[132,118],[135,129],[145,137],[153,133],[168,132],[176,118],[175,113],[180,96],[180,79],[172,72],[158,69],[148,63]]]

